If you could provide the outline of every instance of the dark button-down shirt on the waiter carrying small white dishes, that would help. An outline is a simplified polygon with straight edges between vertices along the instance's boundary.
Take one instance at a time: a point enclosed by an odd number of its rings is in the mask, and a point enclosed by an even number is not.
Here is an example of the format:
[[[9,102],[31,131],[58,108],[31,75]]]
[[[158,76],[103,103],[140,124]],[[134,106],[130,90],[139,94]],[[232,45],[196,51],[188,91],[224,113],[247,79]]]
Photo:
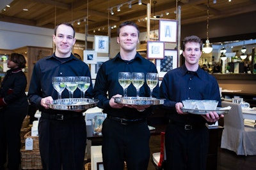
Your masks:
[[[211,74],[200,67],[198,70],[188,71],[185,65],[164,75],[160,87],[160,96],[165,98],[164,108],[170,113],[170,118],[177,122],[189,124],[204,123],[206,120],[200,115],[179,115],[175,110],[175,104],[186,99],[216,100],[221,106],[220,89],[218,82]]]

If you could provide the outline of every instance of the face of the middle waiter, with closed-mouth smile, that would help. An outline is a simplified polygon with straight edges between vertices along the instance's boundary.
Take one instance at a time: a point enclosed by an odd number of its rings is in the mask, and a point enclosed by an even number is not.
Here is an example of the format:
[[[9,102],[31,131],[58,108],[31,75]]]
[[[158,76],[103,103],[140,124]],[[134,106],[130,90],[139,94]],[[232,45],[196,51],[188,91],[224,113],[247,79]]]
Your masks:
[[[138,30],[132,25],[125,25],[120,29],[117,38],[117,43],[120,43],[120,51],[136,52],[136,46],[139,43]]]

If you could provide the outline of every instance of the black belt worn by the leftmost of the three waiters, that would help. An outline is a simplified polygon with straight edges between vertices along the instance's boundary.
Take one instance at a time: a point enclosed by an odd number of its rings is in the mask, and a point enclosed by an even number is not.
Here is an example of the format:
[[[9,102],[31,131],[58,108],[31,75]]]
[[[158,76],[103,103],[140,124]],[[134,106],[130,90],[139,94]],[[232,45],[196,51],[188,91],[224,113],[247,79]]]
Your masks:
[[[52,114],[52,113],[42,112],[41,117],[52,119],[52,120],[67,120],[74,117],[83,117],[83,114],[82,113]]]

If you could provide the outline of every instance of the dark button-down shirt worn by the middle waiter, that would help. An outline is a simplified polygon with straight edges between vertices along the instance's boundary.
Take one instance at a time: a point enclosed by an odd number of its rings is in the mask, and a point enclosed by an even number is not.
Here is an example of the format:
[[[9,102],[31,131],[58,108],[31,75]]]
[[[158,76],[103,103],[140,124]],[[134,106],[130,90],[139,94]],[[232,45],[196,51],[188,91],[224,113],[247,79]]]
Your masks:
[[[124,107],[122,109],[115,109],[109,106],[109,99],[116,94],[124,95],[122,86],[118,83],[119,72],[141,72],[145,76],[147,73],[157,73],[157,69],[154,63],[141,57],[139,53],[132,60],[122,60],[120,53],[116,55],[114,59],[104,62],[100,67],[97,78],[95,81],[95,87],[93,94],[95,99],[99,99],[99,108],[104,109],[104,113],[108,115],[120,117],[120,118],[145,118],[152,111],[152,108],[148,108],[143,112],[139,112],[134,108]],[[108,95],[107,95],[108,94]],[[136,96],[136,89],[132,85],[127,88],[127,96]],[[140,88],[140,97],[149,97],[150,89],[147,83],[143,84]],[[152,97],[159,97],[159,86],[153,90]]]

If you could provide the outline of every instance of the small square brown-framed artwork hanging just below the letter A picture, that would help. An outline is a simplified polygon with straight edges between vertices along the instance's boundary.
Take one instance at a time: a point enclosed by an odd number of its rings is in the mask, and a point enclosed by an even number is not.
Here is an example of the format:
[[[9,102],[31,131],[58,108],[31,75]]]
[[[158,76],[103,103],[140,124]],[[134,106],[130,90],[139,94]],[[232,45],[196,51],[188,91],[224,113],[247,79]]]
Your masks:
[[[147,41],[147,58],[163,59],[164,58],[164,42]]]

